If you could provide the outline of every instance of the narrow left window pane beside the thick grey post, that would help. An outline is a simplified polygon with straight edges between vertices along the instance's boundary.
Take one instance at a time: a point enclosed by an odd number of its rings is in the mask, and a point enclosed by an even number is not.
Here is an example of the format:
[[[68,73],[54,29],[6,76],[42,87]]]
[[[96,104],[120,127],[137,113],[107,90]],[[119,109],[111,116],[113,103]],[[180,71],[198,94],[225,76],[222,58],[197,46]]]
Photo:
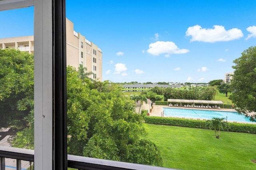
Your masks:
[[[34,8],[0,11],[0,18],[0,145],[34,149]],[[16,160],[5,164],[15,168]]]

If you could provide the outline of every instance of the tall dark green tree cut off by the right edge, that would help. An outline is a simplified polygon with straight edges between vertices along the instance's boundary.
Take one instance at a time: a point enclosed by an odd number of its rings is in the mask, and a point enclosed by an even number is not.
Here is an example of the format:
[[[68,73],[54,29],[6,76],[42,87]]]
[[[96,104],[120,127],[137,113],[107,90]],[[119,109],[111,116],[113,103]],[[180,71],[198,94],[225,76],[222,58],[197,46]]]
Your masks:
[[[234,75],[230,83],[232,95],[229,99],[235,104],[238,113],[251,116],[256,121],[256,46],[244,50],[232,66]]]

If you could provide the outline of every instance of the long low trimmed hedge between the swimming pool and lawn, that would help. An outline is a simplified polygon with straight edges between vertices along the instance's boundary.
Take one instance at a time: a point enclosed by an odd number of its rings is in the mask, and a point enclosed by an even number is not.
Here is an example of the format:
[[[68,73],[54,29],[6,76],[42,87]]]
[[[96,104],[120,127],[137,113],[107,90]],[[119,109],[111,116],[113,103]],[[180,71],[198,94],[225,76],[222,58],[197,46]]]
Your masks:
[[[193,127],[205,129],[206,121],[204,120],[193,120],[193,119],[180,119],[172,117],[155,117],[145,116],[145,123],[157,124],[157,125],[172,125],[182,127]],[[253,133],[256,134],[256,124],[246,123],[228,123],[228,129],[225,131],[242,132],[242,133]]]

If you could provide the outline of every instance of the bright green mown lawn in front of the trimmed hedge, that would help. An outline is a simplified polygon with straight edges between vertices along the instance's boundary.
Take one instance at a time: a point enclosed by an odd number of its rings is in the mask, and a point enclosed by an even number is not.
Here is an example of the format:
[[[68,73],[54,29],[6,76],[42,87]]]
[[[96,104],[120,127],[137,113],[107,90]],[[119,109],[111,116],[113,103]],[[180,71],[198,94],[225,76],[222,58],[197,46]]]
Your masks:
[[[182,170],[256,170],[256,135],[144,123],[164,167]]]

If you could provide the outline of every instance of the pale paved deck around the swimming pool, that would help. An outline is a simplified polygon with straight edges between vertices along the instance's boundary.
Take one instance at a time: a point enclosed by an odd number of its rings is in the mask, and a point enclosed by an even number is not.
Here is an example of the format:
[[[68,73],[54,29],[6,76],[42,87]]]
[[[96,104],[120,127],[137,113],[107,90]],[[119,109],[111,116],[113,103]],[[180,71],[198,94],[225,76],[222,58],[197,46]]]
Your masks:
[[[166,106],[166,105],[153,105],[153,109],[151,111],[150,116],[158,116],[161,117],[161,113],[162,113],[162,108],[166,107],[166,108],[179,108],[179,109],[198,109],[198,110],[218,110],[218,111],[236,111],[235,109],[224,109],[224,108],[220,108],[220,109],[209,109],[209,108],[196,108],[196,107],[175,107],[175,106]],[[181,117],[182,118],[182,117]],[[233,122],[233,121],[232,121]],[[239,123],[239,122],[237,122]],[[241,123],[245,123],[245,122],[241,122]],[[251,124],[256,124],[254,122],[252,122]]]

